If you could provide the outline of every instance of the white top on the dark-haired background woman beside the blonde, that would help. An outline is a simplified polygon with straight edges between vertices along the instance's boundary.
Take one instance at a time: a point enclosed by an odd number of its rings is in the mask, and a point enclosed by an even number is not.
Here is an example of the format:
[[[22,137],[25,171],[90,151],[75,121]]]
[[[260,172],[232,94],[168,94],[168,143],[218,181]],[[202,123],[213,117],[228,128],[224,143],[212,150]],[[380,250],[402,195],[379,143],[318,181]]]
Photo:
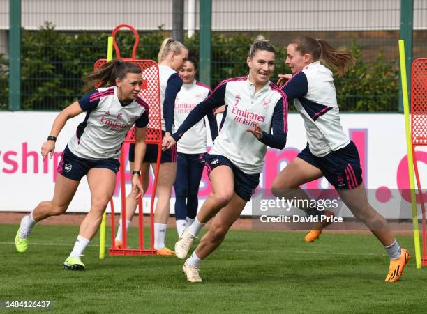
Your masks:
[[[183,84],[175,99],[174,129],[178,129],[183,120],[197,104],[205,100],[211,88],[194,80],[192,84]],[[177,152],[184,154],[201,154],[207,152],[206,125],[204,119],[189,129],[177,143]]]

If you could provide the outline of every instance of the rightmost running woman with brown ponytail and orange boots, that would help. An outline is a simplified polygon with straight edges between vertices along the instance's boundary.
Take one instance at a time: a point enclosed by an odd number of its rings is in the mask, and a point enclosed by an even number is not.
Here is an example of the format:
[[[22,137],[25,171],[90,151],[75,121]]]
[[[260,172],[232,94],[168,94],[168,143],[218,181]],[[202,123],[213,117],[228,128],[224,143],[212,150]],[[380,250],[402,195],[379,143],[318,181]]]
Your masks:
[[[365,223],[386,249],[389,273],[385,281],[398,281],[410,258],[407,249],[400,248],[387,221],[368,203],[361,175],[359,152],[340,123],[339,109],[332,72],[322,63],[334,68],[341,76],[354,65],[354,57],[334,49],[324,40],[301,37],[287,46],[286,64],[292,74],[279,75],[279,86],[304,119],[307,146],[274,180],[271,189],[276,196],[310,200],[300,185],[324,176],[334,185],[340,198],[354,217]],[[321,212],[300,208],[312,216]],[[323,214],[331,221],[334,213]],[[327,220],[328,221],[328,220]],[[305,240],[313,242],[330,222],[315,223]]]

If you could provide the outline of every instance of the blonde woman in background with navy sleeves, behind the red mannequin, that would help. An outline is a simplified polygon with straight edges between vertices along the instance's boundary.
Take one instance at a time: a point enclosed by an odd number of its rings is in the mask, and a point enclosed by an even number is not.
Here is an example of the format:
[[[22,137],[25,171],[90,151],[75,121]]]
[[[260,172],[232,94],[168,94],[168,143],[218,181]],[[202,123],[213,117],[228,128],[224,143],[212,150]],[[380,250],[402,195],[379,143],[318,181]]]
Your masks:
[[[188,56],[188,49],[172,38],[163,40],[158,52],[158,70],[160,80],[160,108],[162,113],[162,133],[163,136],[172,134],[172,125],[174,125],[174,107],[175,97],[181,89],[182,79],[178,72],[181,69],[183,62]],[[149,166],[156,172],[156,161],[158,146],[155,144],[147,145],[147,154],[144,162],[141,164],[135,163],[135,146],[129,147],[129,162],[130,168],[133,169],[142,167],[142,178],[144,180],[144,191],[147,190],[149,184]],[[177,173],[177,150],[169,150],[163,152],[160,160],[160,170],[157,181],[157,204],[154,214],[154,248],[157,249],[157,254],[160,256],[170,256],[174,251],[165,246],[165,234],[167,229],[167,219],[170,213],[170,197],[172,194],[172,185],[175,181]],[[133,214],[137,207],[137,200],[132,194],[126,198],[126,229],[130,225]],[[119,219],[119,228],[117,230],[116,245],[121,247],[121,219]]]

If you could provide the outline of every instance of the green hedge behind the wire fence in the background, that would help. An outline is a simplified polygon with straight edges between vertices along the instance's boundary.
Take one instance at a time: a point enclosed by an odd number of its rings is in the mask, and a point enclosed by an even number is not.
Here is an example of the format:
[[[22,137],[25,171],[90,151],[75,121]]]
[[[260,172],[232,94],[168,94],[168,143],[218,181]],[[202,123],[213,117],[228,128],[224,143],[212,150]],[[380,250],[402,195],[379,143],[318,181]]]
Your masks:
[[[160,43],[169,34],[162,29],[140,33],[137,58],[156,60]],[[93,63],[98,58],[105,58],[108,36],[110,33],[59,32],[50,23],[38,31],[23,31],[21,108],[57,111],[80,97],[81,78],[93,71]],[[246,56],[253,39],[240,33],[234,36],[212,34],[211,87],[227,77],[237,77],[248,72]],[[130,56],[133,34],[121,32],[117,41],[121,56]],[[185,39],[185,44],[194,54],[198,54],[198,42],[197,33],[193,38]],[[278,56],[274,81],[278,73],[290,72],[284,64],[286,47],[276,49]],[[396,65],[384,61],[382,54],[378,54],[375,63],[368,64],[362,59],[361,47],[354,42],[351,49],[357,58],[357,66],[344,77],[336,79],[341,111],[397,111]],[[4,93],[1,95],[0,109],[3,110],[8,108],[7,75],[7,60],[0,56],[0,87],[3,87]]]

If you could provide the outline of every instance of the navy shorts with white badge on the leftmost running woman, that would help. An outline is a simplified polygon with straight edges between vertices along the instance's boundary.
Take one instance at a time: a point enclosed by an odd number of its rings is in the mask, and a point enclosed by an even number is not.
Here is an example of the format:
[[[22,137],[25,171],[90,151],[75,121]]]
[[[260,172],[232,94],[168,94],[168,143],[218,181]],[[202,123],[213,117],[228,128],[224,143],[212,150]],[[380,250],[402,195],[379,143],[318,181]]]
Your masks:
[[[117,173],[120,168],[120,162],[114,158],[97,160],[80,158],[74,155],[66,146],[57,170],[58,173],[68,179],[80,181],[91,168],[105,168]]]

